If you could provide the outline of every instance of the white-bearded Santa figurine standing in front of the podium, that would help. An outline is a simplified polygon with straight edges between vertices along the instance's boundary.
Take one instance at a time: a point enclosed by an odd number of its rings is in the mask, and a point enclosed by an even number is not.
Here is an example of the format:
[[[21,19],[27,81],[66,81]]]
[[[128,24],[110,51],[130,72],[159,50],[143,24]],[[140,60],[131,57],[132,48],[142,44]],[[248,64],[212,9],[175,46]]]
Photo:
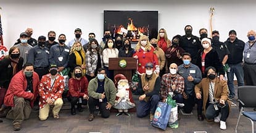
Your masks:
[[[113,106],[114,108],[118,109],[118,113],[116,116],[122,115],[122,113],[130,116],[130,113],[128,113],[128,109],[135,107],[135,104],[133,101],[128,80],[120,79],[118,81],[117,89],[117,97],[115,99],[115,105]]]

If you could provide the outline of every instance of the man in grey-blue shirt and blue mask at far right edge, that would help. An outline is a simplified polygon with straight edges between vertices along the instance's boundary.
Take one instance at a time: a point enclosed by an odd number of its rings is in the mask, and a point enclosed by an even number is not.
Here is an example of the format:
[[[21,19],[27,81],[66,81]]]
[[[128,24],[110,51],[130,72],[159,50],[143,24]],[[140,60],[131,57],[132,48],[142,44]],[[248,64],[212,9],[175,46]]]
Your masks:
[[[250,30],[247,33],[248,41],[244,45],[244,83],[245,85],[256,86],[256,32]]]

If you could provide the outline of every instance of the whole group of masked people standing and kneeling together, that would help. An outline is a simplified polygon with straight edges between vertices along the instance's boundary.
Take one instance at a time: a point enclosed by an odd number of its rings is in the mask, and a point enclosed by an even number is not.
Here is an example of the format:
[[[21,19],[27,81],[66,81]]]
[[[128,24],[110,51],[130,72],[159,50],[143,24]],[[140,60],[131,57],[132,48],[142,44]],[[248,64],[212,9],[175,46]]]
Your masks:
[[[256,85],[255,31],[248,32],[246,44],[237,39],[234,30],[229,31],[226,42],[220,42],[218,31],[212,32],[212,39],[205,28],[199,30],[200,37],[192,35],[190,25],[184,31],[184,36],[171,40],[165,29],[150,40],[141,35],[132,48],[129,39],[122,35],[113,39],[109,30],[98,43],[93,32],[87,40],[76,28],[75,38],[65,43],[65,34],[56,42],[54,31],[48,32],[48,40],[45,36],[35,40],[33,29],[28,28],[0,61],[0,115],[14,120],[15,131],[29,118],[34,105],[39,106],[40,120],[47,120],[51,108],[53,117],[59,119],[65,96],[72,115],[76,115],[75,106],[83,112],[82,105],[88,104],[89,121],[94,119],[96,106],[102,118],[108,118],[117,93],[109,58],[132,57],[138,59],[138,117],[149,115],[152,121],[157,103],[173,92],[185,113],[191,113],[197,103],[199,121],[205,116],[226,129],[228,98],[235,96],[234,74],[238,86]]]

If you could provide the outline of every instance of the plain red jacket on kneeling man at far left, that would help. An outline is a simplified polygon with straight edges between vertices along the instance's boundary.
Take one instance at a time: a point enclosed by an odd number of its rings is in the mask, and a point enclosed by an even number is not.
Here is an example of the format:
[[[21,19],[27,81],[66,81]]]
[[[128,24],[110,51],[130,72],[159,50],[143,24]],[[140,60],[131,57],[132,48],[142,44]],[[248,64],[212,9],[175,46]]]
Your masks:
[[[7,89],[6,96],[4,97],[4,105],[14,107],[14,96],[23,97],[24,99],[32,99],[30,101],[31,107],[38,96],[38,85],[39,77],[36,72],[33,72],[33,93],[26,92],[27,89],[27,79],[23,74],[23,70],[20,70],[17,74],[10,80],[9,88]]]

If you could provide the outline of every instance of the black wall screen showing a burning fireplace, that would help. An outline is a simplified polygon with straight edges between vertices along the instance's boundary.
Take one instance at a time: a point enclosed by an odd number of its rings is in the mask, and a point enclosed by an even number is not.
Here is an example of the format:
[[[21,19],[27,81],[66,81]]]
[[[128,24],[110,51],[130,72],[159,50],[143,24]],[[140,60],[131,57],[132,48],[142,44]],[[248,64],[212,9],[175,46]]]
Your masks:
[[[137,42],[141,34],[157,38],[158,11],[104,10],[105,29],[114,38],[119,34],[132,42]]]

